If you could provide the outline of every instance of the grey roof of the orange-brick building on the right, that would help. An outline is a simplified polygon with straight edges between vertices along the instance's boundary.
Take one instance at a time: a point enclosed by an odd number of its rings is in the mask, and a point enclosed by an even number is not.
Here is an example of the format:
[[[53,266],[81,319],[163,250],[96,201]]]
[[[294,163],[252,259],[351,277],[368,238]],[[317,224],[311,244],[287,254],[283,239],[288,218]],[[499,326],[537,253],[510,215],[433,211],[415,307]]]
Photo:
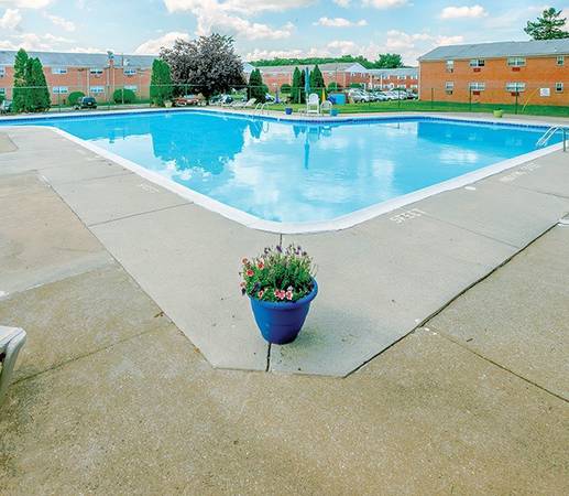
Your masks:
[[[569,54],[569,39],[496,42],[472,45],[439,46],[419,57],[419,62],[456,58],[502,58],[512,56],[546,56]]]

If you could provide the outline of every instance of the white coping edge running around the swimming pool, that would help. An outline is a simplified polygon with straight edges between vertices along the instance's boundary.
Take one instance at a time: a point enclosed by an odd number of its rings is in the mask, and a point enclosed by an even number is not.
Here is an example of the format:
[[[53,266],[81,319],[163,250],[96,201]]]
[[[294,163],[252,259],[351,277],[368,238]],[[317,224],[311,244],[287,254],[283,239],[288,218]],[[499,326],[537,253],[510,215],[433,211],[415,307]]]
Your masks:
[[[154,111],[153,109],[140,109],[139,112],[149,112],[150,111]],[[169,110],[169,109],[168,109]],[[186,108],[180,108],[180,109],[176,109],[176,110],[190,110],[190,109],[186,109]],[[192,109],[194,110],[194,109]],[[204,110],[203,108],[197,108],[196,110]],[[164,109],[156,109],[156,111],[164,111]],[[260,116],[260,115],[255,115],[255,114],[245,114],[245,112],[234,112],[234,111],[223,111],[223,112],[219,112],[218,109],[211,109],[211,110],[206,110],[206,111],[212,111],[215,114],[230,114],[230,115],[236,115],[236,116],[241,116],[241,117],[269,117],[271,118],[272,120],[281,120],[278,118],[275,118],[275,117],[272,117],[272,116]],[[98,112],[98,114],[95,114],[95,116],[100,116],[100,115],[118,115],[118,114],[136,114],[136,111],[133,111],[133,110],[119,110],[119,111],[109,111],[109,112]],[[66,112],[64,115],[62,114],[58,114],[55,119],[57,118],[65,118],[65,117],[76,117],[76,116],[84,116],[84,115],[87,115],[87,116],[94,116],[94,114],[88,114],[88,112],[80,112],[80,114],[72,114],[72,112]],[[389,116],[386,115],[382,115],[384,118],[393,118],[393,117],[396,117],[396,116],[401,116],[402,114],[401,112],[394,112],[394,114],[390,114]],[[382,116],[377,116],[377,119],[381,120]],[[448,120],[448,121],[453,121],[453,122],[472,122],[472,121],[477,121],[477,122],[481,122],[481,123],[488,123],[488,125],[513,125],[513,126],[524,126],[524,125],[529,125],[529,126],[535,126],[535,127],[541,127],[541,126],[549,126],[550,123],[548,122],[540,122],[540,121],[522,121],[522,120],[504,120],[504,119],[501,119],[500,121],[496,121],[496,120],[490,120],[490,119],[484,119],[484,118],[475,118],[475,119],[471,119],[470,117],[468,119],[464,119],[464,118],[457,118],[457,117],[446,117],[446,116],[440,116],[440,115],[437,115],[437,114],[418,114],[418,112],[413,112],[413,114],[405,114],[405,116],[417,116],[417,117],[428,117],[428,118],[436,118],[436,119],[439,119],[439,120]],[[289,117],[289,116],[287,116]],[[51,118],[53,119],[54,117],[52,116],[42,116],[42,118]],[[375,117],[373,117],[375,118]],[[31,118],[31,117],[28,117],[28,116],[23,116],[22,120],[35,120],[36,118]],[[347,118],[348,119],[348,118]],[[370,116],[365,116],[365,117],[360,117],[358,118],[358,116],[350,116],[349,117],[350,121],[355,121],[355,120],[369,120],[370,119]],[[20,119],[18,119],[20,120]],[[282,120],[288,120],[288,119],[282,119]],[[338,118],[318,118],[318,119],[309,119],[305,116],[303,116],[302,118],[303,121],[314,121],[315,123],[319,123],[319,122],[324,122],[324,121],[327,121],[327,120],[330,120],[332,122],[341,122],[343,119],[338,119]],[[0,120],[1,122],[1,120]],[[9,126],[9,125],[8,125]],[[7,127],[8,127],[7,126]],[[182,184],[178,184],[156,172],[153,172],[153,171],[150,171],[145,168],[143,168],[142,165],[139,165],[138,163],[131,161],[131,160],[128,160],[128,159],[124,159],[116,153],[112,153],[103,148],[100,148],[96,144],[92,144],[88,141],[85,141],[80,138],[77,138],[76,136],[73,136],[66,131],[63,131],[56,127],[53,127],[53,126],[18,126],[18,128],[29,128],[29,129],[50,129],[52,131],[54,131],[55,133],[79,144],[80,147],[94,152],[94,153],[97,153],[98,155],[105,158],[105,159],[108,159],[112,162],[116,162],[117,164],[123,166],[124,169],[142,176],[143,179],[154,183],[154,184],[157,184],[162,187],[164,187],[165,190],[168,190],[173,193],[176,193],[177,195],[182,196],[183,198],[187,200],[188,202],[193,203],[193,204],[196,204],[196,205],[199,205],[204,208],[207,208],[208,211],[211,211],[214,213],[217,213],[230,220],[233,220],[233,222],[237,222],[245,227],[249,227],[249,228],[252,228],[252,229],[256,229],[256,230],[263,230],[263,231],[267,231],[267,233],[274,233],[274,234],[286,234],[286,235],[292,235],[292,234],[315,234],[315,233],[325,233],[325,231],[335,231],[335,230],[342,230],[342,229],[348,229],[350,227],[354,227],[355,225],[358,224],[362,224],[366,220],[371,220],[380,215],[383,215],[383,214],[387,214],[390,212],[393,212],[393,211],[396,211],[398,208],[403,208],[409,204],[413,204],[413,203],[416,203],[416,202],[419,202],[420,200],[424,200],[424,198],[427,198],[429,196],[433,196],[433,195],[436,195],[438,193],[444,193],[444,192],[447,192],[447,191],[451,191],[451,190],[458,190],[460,187],[463,187],[463,186],[467,186],[469,184],[472,184],[472,183],[475,183],[482,179],[485,179],[485,177],[489,177],[491,175],[495,175],[495,174],[499,174],[501,172],[504,172],[508,169],[512,169],[512,168],[515,168],[517,165],[522,165],[524,163],[527,163],[527,162],[530,162],[532,160],[536,160],[536,159],[539,159],[541,157],[546,157],[552,152],[556,152],[558,150],[561,150],[562,149],[562,143],[557,143],[557,144],[552,144],[550,147],[547,147],[547,148],[544,148],[541,150],[535,150],[533,152],[529,152],[529,153],[524,153],[522,155],[517,155],[517,157],[514,157],[512,159],[507,159],[507,160],[504,160],[504,161],[501,161],[501,162],[497,162],[497,163],[494,163],[492,165],[488,165],[485,168],[482,168],[482,169],[478,169],[477,171],[472,171],[472,172],[469,172],[467,174],[463,174],[463,175],[460,175],[458,177],[453,177],[451,180],[447,180],[447,181],[444,181],[441,183],[437,183],[437,184],[434,184],[431,186],[427,186],[427,187],[424,187],[422,190],[417,190],[415,192],[412,192],[412,193],[407,193],[405,195],[401,195],[401,196],[397,196],[395,198],[392,198],[392,200],[387,200],[385,202],[381,202],[381,203],[377,203],[375,205],[371,205],[369,207],[365,207],[365,208],[361,208],[359,211],[355,211],[355,212],[352,212],[350,214],[347,214],[347,215],[343,215],[343,216],[340,216],[340,217],[336,217],[333,219],[330,219],[330,220],[319,220],[319,222],[314,222],[314,223],[277,223],[277,222],[273,222],[273,220],[265,220],[265,219],[262,219],[260,217],[256,217],[254,215],[251,215],[251,214],[248,214],[243,211],[240,211],[238,208],[234,208],[232,206],[229,206],[229,205],[226,205],[221,202],[218,202],[217,200],[214,200],[207,195],[204,195],[201,193],[198,193],[194,190],[190,190],[186,186],[183,186]]]

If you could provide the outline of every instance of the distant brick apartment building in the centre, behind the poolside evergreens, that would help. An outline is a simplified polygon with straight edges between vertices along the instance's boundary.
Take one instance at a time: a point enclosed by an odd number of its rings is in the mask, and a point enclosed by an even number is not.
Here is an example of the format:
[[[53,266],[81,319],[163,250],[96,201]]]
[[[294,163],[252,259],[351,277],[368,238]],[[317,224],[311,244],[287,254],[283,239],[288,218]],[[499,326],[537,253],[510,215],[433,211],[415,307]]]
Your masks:
[[[296,67],[300,71],[305,71],[306,67],[308,67],[309,71],[314,69],[314,65],[276,65],[256,68],[261,71],[263,83],[269,87],[269,90],[274,93],[284,84],[293,84],[293,74]],[[344,88],[349,87],[352,83],[365,86],[370,84],[370,74],[368,69],[359,63],[318,64],[318,67],[322,73],[326,86],[332,82]],[[253,68],[254,67],[250,64],[244,65],[244,72],[248,78]]]

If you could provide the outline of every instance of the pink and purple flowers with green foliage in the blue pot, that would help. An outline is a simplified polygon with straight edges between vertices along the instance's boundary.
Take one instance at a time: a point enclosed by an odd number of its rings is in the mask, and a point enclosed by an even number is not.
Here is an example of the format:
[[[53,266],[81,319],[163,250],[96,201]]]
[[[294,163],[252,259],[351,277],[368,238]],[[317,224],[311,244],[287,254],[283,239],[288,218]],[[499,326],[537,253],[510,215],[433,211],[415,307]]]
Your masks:
[[[242,294],[271,302],[297,301],[313,290],[313,260],[299,246],[265,248],[253,260],[242,260]]]

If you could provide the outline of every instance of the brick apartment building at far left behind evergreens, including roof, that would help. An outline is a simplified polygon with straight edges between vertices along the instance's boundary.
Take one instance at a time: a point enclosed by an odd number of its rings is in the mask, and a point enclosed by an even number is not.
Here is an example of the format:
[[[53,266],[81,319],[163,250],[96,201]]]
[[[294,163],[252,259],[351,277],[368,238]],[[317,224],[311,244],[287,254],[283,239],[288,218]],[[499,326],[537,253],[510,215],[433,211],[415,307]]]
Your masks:
[[[14,84],[13,51],[0,51],[0,95],[11,99]],[[44,67],[52,103],[65,104],[73,91],[92,95],[99,101],[112,98],[117,88],[149,96],[154,56],[99,53],[28,52]]]

